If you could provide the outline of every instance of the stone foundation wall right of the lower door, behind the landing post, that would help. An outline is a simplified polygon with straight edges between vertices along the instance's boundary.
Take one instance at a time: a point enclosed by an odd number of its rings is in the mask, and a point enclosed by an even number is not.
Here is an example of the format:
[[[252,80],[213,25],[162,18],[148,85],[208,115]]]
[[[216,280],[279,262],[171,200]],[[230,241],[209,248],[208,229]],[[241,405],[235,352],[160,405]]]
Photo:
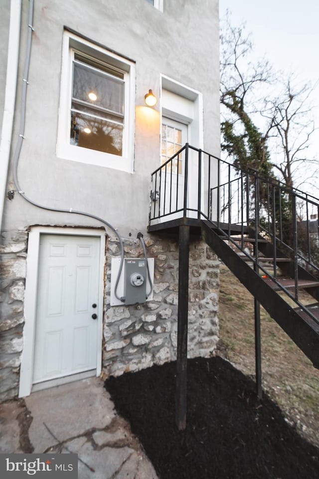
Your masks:
[[[104,315],[103,374],[119,376],[176,359],[178,244],[145,238],[155,258],[154,298],[145,304],[110,306],[111,259],[119,255],[108,241]],[[124,240],[127,257],[143,257],[139,240]],[[203,242],[193,241],[189,255],[188,357],[210,356],[218,341],[219,261]]]

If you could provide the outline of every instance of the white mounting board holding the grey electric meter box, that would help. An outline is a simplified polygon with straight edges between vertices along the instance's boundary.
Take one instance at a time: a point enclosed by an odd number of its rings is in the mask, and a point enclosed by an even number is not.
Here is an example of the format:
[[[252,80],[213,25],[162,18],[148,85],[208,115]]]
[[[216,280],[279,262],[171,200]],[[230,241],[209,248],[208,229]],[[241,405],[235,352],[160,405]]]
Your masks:
[[[136,304],[152,301],[153,288],[151,287],[148,268],[149,265],[152,283],[154,283],[154,258],[124,258],[121,276],[115,295],[115,285],[120,269],[121,258],[112,258],[111,263],[111,306]],[[148,295],[148,297],[146,297]],[[121,301],[121,298],[124,301]]]

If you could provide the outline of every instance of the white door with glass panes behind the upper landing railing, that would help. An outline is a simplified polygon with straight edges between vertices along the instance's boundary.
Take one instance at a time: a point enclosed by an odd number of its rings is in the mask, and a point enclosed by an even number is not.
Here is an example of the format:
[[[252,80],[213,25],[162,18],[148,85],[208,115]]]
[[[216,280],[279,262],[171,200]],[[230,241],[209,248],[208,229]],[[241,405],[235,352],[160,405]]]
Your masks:
[[[187,125],[179,121],[162,117],[161,124],[161,165],[171,158],[188,141]],[[184,199],[184,161],[185,152],[176,157],[171,164],[161,169],[160,215],[168,215],[162,221],[179,218],[182,213],[170,212],[183,208]]]

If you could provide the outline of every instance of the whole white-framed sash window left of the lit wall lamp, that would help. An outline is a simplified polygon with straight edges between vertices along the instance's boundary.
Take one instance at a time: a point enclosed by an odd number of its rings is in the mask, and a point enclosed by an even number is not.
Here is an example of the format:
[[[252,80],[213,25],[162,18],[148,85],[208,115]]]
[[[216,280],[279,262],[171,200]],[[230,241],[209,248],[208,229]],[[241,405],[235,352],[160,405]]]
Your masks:
[[[63,54],[58,156],[132,172],[134,64],[68,32]]]

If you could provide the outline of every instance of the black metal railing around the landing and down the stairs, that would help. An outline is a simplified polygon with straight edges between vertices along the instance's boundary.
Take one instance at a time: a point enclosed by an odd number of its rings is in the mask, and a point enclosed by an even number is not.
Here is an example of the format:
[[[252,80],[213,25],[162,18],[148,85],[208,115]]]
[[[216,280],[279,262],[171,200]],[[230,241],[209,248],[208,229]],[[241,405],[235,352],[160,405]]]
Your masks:
[[[255,267],[276,282],[296,304],[318,322],[299,301],[299,265],[319,276],[319,200],[255,170],[242,170],[186,143],[152,173],[150,224],[179,217],[209,221],[241,250]],[[314,218],[317,218],[314,219]],[[238,242],[231,237],[239,225]],[[254,255],[245,247],[245,232],[254,231]],[[259,261],[258,240],[272,243],[273,272]],[[292,261],[292,294],[277,279],[277,250]]]

